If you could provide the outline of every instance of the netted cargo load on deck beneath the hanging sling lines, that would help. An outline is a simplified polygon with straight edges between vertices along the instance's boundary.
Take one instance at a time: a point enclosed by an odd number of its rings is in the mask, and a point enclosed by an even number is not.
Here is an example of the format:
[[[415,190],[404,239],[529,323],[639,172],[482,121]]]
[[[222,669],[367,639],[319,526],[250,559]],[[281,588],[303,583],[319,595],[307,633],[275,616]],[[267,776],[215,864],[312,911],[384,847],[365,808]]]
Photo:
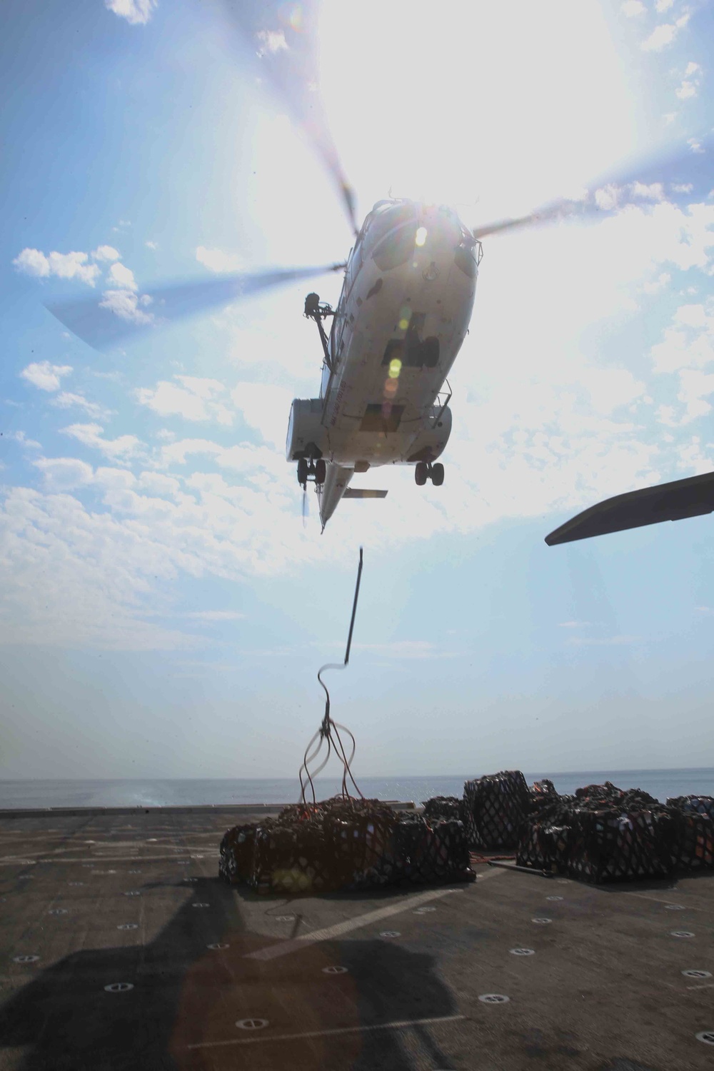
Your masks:
[[[236,826],[218,873],[261,893],[322,893],[397,884],[472,881],[464,826],[399,815],[379,800],[335,798]]]

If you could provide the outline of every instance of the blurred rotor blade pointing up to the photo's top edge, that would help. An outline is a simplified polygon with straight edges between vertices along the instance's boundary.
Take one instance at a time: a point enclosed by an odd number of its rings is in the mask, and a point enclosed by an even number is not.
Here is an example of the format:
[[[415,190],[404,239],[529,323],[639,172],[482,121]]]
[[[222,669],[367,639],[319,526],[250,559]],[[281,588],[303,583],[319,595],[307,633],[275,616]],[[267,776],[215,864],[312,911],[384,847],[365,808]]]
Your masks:
[[[318,0],[219,0],[247,41],[258,70],[332,175],[353,233],[356,198],[330,133],[318,87]]]

